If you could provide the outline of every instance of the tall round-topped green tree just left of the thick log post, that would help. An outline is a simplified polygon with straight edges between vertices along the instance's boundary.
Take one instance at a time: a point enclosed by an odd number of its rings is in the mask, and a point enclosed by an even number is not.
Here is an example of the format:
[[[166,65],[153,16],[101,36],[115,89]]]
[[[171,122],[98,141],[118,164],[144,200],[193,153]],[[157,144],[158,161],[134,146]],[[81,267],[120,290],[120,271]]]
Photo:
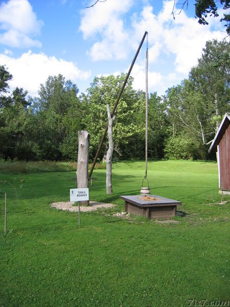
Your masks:
[[[77,86],[70,80],[65,81],[62,75],[49,76],[45,84],[41,84],[36,100],[36,112],[39,123],[37,139],[39,146],[43,148],[43,159],[60,160],[62,155],[68,157],[71,145],[71,139],[68,138],[71,137],[68,115],[78,102],[77,93]],[[72,117],[70,121],[73,124]],[[74,147],[76,152],[76,142]]]

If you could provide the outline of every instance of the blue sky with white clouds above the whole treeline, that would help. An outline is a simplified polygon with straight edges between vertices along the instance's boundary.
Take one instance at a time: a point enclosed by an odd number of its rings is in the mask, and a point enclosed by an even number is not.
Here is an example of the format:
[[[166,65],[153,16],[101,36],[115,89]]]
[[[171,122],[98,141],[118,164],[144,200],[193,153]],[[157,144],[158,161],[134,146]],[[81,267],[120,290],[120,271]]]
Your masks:
[[[194,0],[175,20],[173,0],[107,0],[85,8],[95,2],[0,1],[0,64],[13,75],[11,89],[36,96],[49,75],[60,73],[85,92],[95,76],[127,72],[148,31],[149,92],[163,95],[188,77],[206,40],[226,37],[222,11],[201,26]],[[146,43],[132,71],[135,89],[145,89],[145,51]]]

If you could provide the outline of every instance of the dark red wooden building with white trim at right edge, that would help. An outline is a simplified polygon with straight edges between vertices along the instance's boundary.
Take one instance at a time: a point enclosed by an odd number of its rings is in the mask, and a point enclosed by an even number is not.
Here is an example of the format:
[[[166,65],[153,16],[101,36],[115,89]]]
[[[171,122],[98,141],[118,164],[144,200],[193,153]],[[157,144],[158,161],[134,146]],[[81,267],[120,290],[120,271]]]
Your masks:
[[[230,194],[230,115],[225,114],[209,152],[217,151],[220,193]]]

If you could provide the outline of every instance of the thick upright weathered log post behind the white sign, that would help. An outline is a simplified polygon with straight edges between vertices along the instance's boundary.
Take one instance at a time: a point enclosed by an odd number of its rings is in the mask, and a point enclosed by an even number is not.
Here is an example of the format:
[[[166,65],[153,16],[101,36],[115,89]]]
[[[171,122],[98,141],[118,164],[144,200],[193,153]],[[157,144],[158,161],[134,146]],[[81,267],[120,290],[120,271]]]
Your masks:
[[[77,185],[78,188],[88,188],[88,156],[89,156],[89,133],[78,131],[78,164]],[[82,201],[81,205],[88,205],[88,201]]]

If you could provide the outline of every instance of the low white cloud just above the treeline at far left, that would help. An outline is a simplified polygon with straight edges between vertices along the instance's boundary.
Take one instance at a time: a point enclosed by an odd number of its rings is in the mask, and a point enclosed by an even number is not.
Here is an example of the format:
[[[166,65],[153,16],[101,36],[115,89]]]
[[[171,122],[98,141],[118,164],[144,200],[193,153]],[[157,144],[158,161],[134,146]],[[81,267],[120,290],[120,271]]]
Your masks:
[[[90,71],[81,71],[73,62],[67,62],[56,57],[48,57],[44,53],[32,53],[28,51],[19,58],[0,54],[0,64],[6,65],[13,75],[9,82],[11,89],[16,86],[29,91],[29,95],[37,95],[41,83],[44,83],[51,75],[63,75],[66,79],[86,80],[90,77]]]

